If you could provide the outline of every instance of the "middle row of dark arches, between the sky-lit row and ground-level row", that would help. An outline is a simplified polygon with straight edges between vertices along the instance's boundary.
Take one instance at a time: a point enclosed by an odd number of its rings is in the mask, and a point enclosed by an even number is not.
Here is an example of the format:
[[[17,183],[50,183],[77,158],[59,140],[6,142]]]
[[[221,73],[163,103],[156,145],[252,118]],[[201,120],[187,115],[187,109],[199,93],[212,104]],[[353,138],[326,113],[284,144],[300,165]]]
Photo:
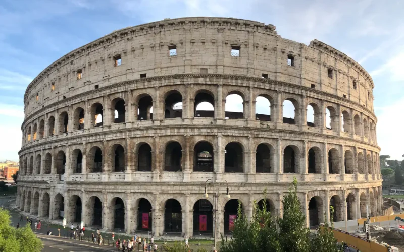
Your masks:
[[[163,164],[157,167],[154,164],[153,149],[148,143],[142,142],[137,145],[134,157],[128,157],[128,152],[121,144],[114,144],[109,148],[109,154],[103,153],[103,149],[98,146],[92,146],[86,153],[84,159],[81,149],[73,149],[70,153],[70,166],[66,166],[66,154],[60,150],[53,157],[51,153],[30,155],[25,157],[21,167],[21,174],[51,174],[52,168],[56,174],[64,174],[66,167],[70,169],[69,173],[94,173],[94,172],[123,172],[127,170],[128,160],[133,160],[135,171],[153,171],[161,169],[162,171],[177,172],[183,171],[183,147],[179,142],[169,141],[163,152]],[[208,141],[199,141],[191,151],[192,158],[190,166],[194,172],[213,172],[215,166],[215,153],[213,145]],[[261,143],[257,146],[254,163],[249,164],[251,171],[256,173],[274,173],[276,152],[275,148],[269,143]],[[328,149],[327,153],[317,146],[312,146],[307,151],[306,167],[301,166],[300,159],[302,155],[299,147],[287,145],[283,149],[283,165],[281,173],[317,173],[317,174],[378,174],[378,162],[376,156],[367,153],[366,159],[363,152],[358,152],[355,156],[351,150],[345,150],[341,159],[341,153],[336,148]],[[132,154],[130,154],[132,155]],[[224,172],[243,173],[247,172],[245,157],[246,151],[240,142],[230,142],[224,148]],[[107,158],[107,160],[105,160]],[[343,160],[343,163],[342,161]],[[28,163],[29,161],[29,163]],[[108,165],[104,163],[107,162]],[[54,164],[53,164],[54,163]],[[84,166],[84,163],[86,164]],[[54,167],[53,167],[54,166]],[[130,164],[132,166],[132,164]],[[83,170],[85,167],[85,171]],[[326,170],[328,168],[328,170]],[[341,171],[343,169],[343,171]]]

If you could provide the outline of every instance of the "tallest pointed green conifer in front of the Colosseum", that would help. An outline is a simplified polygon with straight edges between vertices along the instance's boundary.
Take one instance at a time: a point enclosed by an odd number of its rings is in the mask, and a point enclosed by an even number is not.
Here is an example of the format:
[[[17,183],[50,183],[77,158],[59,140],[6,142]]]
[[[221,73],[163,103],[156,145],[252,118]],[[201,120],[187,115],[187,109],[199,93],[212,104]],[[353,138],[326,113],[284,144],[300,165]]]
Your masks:
[[[283,251],[309,251],[309,233],[306,217],[301,212],[300,200],[297,197],[297,180],[289,186],[289,192],[282,200],[283,219],[278,219],[279,241]],[[325,251],[325,250],[324,250]]]

